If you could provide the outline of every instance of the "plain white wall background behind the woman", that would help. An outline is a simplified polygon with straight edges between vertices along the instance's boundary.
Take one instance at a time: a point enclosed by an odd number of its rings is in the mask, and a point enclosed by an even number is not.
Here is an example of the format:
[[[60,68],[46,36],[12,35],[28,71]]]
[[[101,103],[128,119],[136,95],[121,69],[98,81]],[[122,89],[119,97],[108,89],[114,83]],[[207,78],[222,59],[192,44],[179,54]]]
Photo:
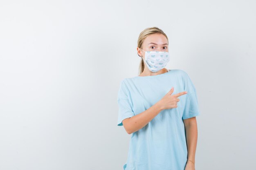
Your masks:
[[[0,2],[0,170],[122,170],[117,91],[157,26],[198,93],[196,170],[256,170],[254,0]]]

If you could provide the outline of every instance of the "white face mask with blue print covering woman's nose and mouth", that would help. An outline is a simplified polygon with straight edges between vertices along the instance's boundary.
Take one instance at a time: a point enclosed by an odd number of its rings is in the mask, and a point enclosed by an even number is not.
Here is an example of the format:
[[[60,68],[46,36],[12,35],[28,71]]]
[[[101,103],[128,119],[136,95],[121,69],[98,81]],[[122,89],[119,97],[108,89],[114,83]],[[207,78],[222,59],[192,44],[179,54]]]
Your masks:
[[[165,51],[144,51],[144,52],[145,52],[144,62],[148,66],[148,69],[152,72],[157,72],[163,69],[167,65],[167,63],[170,61],[170,55],[168,52],[165,52]]]

